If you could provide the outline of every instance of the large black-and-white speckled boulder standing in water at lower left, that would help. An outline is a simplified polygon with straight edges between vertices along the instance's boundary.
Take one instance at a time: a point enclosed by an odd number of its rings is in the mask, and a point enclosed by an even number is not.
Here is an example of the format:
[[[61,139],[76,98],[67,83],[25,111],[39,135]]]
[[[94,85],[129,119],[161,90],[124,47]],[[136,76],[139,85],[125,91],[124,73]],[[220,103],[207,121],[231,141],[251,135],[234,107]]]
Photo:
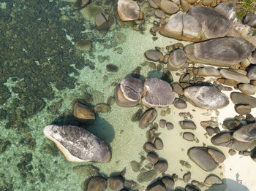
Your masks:
[[[48,125],[44,128],[44,134],[71,162],[109,163],[111,160],[108,144],[83,128],[72,125]]]

